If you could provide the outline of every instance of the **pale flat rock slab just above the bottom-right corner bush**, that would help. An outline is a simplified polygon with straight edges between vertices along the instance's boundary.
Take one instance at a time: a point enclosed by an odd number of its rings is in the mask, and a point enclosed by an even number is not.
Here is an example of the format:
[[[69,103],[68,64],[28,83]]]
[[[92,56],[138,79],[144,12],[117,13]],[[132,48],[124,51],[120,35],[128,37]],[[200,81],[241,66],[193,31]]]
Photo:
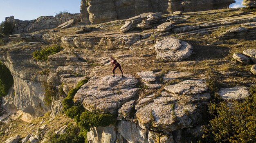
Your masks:
[[[244,86],[236,86],[233,88],[222,88],[219,95],[226,101],[240,101],[249,97],[250,92]]]

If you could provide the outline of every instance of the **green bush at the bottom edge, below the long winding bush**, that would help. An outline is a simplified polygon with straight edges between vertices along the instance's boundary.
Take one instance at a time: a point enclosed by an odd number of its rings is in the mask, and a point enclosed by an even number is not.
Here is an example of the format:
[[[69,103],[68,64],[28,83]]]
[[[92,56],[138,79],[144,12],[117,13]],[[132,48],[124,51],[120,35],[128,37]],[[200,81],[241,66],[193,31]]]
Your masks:
[[[47,143],[84,143],[85,139],[79,134],[80,128],[69,123],[65,134],[53,134]]]

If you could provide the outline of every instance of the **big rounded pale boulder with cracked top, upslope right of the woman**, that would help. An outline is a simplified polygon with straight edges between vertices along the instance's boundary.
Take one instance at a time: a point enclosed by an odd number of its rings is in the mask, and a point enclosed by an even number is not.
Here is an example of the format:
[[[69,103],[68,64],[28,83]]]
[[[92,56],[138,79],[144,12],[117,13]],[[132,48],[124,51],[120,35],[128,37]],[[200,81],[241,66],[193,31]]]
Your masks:
[[[165,37],[164,40],[155,44],[157,59],[164,61],[182,61],[189,58],[192,54],[193,47],[175,37]]]

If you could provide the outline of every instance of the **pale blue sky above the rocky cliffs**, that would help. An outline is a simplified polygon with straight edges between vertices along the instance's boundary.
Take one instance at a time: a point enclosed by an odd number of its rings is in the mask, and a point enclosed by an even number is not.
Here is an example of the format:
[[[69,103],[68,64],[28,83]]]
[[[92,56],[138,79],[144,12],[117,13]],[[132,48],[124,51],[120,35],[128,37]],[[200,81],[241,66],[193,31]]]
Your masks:
[[[236,1],[230,7],[241,7],[243,0]],[[64,10],[80,13],[80,2],[81,0],[0,0],[0,22],[11,15],[20,20],[33,20]]]

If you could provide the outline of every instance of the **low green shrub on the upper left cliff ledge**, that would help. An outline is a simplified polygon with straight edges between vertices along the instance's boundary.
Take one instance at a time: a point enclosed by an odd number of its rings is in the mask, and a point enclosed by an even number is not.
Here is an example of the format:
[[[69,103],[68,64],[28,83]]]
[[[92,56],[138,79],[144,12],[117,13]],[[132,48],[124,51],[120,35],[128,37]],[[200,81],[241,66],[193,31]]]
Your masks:
[[[62,50],[63,48],[61,46],[52,45],[52,46],[47,46],[41,49],[40,51],[36,50],[32,54],[33,54],[33,58],[36,60],[47,61],[49,55],[54,55]]]

